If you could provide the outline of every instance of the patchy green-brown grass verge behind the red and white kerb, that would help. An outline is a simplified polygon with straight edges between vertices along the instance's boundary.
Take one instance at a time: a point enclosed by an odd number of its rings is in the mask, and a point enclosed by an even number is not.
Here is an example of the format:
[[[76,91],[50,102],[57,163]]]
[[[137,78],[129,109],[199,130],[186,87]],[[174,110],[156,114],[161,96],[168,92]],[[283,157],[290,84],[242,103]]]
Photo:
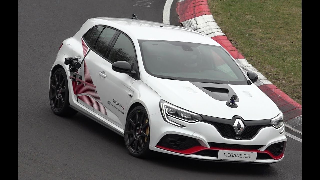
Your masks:
[[[301,0],[208,0],[222,32],[259,72],[302,105]]]

